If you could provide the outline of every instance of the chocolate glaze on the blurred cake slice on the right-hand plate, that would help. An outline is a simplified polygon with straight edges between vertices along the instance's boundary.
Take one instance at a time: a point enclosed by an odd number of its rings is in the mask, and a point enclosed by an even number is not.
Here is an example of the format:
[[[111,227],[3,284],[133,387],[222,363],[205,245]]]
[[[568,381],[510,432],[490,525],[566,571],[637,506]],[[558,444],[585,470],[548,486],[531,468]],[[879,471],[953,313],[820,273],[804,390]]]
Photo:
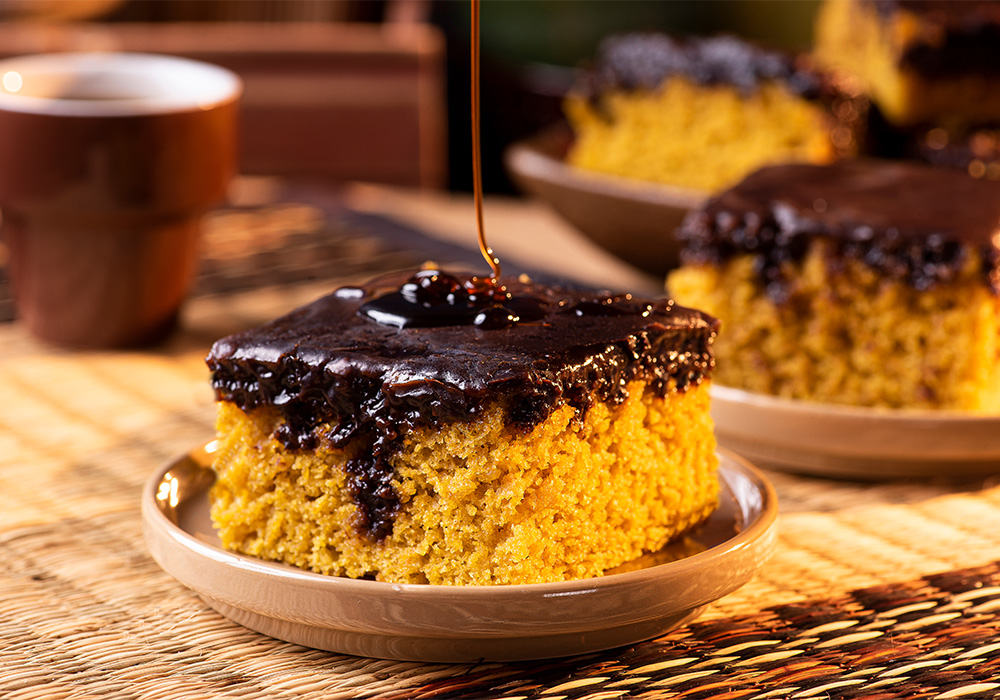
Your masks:
[[[787,298],[781,264],[801,260],[812,239],[834,257],[864,261],[917,289],[954,279],[970,250],[1000,292],[1000,183],[918,163],[840,161],[764,168],[689,214],[678,235],[685,264],[758,257],[761,281]]]

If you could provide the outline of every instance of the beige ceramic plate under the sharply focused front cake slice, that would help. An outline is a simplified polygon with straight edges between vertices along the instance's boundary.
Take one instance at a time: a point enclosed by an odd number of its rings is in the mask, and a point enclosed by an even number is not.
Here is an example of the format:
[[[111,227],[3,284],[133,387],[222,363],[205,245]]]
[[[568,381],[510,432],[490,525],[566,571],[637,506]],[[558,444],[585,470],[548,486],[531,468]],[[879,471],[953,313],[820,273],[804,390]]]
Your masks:
[[[208,515],[211,457],[196,450],[152,476],[142,496],[153,558],[246,627],[305,646],[414,661],[567,656],[650,639],[739,588],[774,547],[766,479],[720,453],[720,506],[695,532],[705,551],[596,579],[522,586],[399,585],[322,576],[232,554]],[[661,554],[661,553],[658,553]]]

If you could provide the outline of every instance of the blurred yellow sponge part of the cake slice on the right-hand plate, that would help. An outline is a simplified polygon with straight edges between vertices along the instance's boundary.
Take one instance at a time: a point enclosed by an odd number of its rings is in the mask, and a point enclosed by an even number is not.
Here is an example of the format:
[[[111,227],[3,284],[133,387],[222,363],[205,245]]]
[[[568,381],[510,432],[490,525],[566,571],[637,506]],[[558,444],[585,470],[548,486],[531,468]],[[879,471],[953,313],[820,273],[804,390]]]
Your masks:
[[[831,258],[814,240],[784,265],[780,303],[756,263],[743,254],[669,278],[678,299],[722,320],[718,384],[822,403],[1000,413],[1000,298],[975,258],[948,284],[920,291]]]

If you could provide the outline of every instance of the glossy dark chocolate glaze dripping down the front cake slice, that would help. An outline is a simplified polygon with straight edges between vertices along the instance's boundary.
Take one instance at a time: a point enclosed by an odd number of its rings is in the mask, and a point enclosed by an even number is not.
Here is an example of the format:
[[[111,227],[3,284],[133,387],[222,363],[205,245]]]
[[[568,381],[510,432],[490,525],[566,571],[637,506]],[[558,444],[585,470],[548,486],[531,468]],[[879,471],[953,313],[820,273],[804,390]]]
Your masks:
[[[423,295],[408,301],[406,285]],[[527,431],[564,404],[582,413],[621,402],[629,381],[662,395],[714,367],[717,322],[671,301],[515,280],[470,299],[470,288],[477,283],[443,273],[382,279],[224,338],[207,358],[216,397],[244,411],[276,408],[275,437],[290,449],[354,455],[358,527],[379,539],[399,508],[389,460],[404,433],[473,420],[498,402],[508,425]],[[503,322],[476,323],[496,308]]]

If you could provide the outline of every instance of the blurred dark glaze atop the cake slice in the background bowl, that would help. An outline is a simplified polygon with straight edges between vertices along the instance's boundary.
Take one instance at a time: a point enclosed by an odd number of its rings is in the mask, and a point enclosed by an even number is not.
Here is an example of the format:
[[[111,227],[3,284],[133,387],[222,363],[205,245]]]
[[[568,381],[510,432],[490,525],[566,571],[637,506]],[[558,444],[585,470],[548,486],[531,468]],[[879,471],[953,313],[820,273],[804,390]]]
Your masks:
[[[601,42],[580,90],[596,98],[609,90],[652,89],[681,75],[699,85],[733,85],[744,93],[781,81],[793,93],[815,98],[824,90],[824,79],[805,61],[732,36],[679,41],[664,34],[623,34]]]

